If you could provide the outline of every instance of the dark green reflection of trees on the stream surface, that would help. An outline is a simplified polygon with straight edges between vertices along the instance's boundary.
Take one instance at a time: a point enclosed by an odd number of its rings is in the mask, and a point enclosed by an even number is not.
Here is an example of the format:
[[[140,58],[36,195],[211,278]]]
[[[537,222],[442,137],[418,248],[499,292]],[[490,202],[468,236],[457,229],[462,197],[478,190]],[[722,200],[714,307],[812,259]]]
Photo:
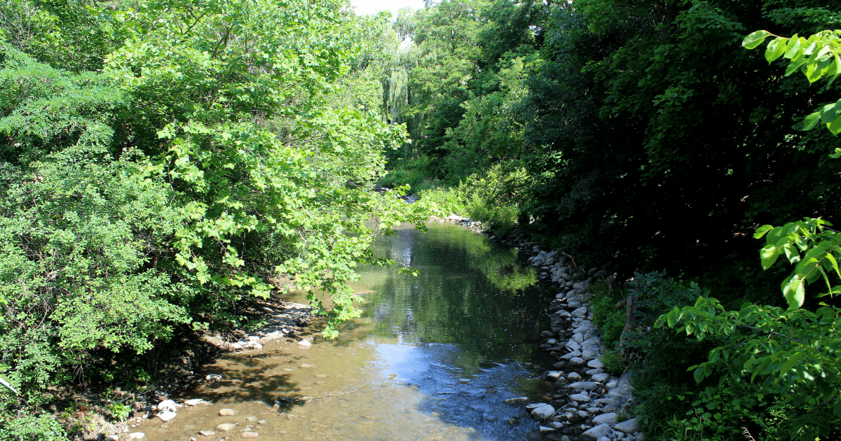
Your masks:
[[[411,262],[417,277],[394,268],[364,275],[375,293],[368,314],[375,333],[406,342],[458,344],[463,362],[524,359],[544,314],[535,271],[502,248],[463,228],[401,231],[378,242],[376,253]],[[404,260],[407,259],[407,260]],[[472,360],[472,361],[470,361]]]

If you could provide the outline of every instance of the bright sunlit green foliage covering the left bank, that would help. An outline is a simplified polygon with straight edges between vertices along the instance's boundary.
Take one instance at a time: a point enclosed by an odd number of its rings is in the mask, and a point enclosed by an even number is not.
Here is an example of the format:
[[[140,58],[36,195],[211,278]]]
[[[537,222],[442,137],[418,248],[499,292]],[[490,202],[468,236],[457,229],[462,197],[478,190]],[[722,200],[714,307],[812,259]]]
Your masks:
[[[382,20],[346,11],[0,6],[0,439],[61,438],[45,391],[149,378],[154,358],[113,361],[235,324],[282,281],[330,293],[331,323],[357,313],[371,220],[407,219],[371,191],[404,129],[349,85]]]

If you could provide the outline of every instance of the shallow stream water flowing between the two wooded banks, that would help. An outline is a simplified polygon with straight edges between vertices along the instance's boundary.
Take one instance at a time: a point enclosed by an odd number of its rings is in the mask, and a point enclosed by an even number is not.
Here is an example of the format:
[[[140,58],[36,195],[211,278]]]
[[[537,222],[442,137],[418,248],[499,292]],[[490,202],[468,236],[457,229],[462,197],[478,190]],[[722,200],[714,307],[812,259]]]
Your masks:
[[[363,267],[354,288],[362,318],[344,323],[335,340],[311,348],[270,342],[260,351],[226,355],[202,375],[223,381],[186,391],[203,398],[170,423],[154,419],[132,431],[150,441],[272,440],[517,440],[537,423],[516,396],[539,399],[549,293],[516,249],[467,228],[433,223],[379,238],[374,253],[410,265]],[[305,302],[302,298],[288,300]],[[221,408],[235,416],[220,417]],[[215,429],[235,423],[230,432]],[[198,431],[214,430],[202,436]],[[246,435],[249,436],[249,435]],[[251,435],[253,436],[253,435]]]

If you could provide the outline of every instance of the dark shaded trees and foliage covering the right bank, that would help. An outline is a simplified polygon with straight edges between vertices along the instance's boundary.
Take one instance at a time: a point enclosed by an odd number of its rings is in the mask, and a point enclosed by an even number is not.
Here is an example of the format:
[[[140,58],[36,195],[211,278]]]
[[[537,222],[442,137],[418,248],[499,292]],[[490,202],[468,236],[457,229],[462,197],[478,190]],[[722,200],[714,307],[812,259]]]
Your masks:
[[[395,23],[412,143],[385,182],[680,275],[593,300],[648,436],[838,438],[839,20],[828,1],[431,4]]]

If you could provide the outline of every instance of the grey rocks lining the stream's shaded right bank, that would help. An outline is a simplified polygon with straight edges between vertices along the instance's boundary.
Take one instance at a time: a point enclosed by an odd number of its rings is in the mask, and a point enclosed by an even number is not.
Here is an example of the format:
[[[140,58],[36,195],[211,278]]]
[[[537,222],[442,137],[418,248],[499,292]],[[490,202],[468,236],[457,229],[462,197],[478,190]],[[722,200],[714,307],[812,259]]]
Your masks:
[[[541,270],[538,277],[558,291],[550,307],[552,328],[541,333],[542,349],[557,360],[553,370],[545,373],[554,393],[547,396],[549,402],[526,406],[542,423],[542,437],[557,441],[641,441],[643,433],[635,418],[619,421],[620,414],[629,413],[632,406],[633,387],[627,375],[617,378],[604,370],[600,355],[605,347],[587,304],[592,283],[616,280],[616,274],[610,272],[611,264],[585,270],[569,255],[541,250],[516,229],[490,239],[533,254],[529,262]]]

